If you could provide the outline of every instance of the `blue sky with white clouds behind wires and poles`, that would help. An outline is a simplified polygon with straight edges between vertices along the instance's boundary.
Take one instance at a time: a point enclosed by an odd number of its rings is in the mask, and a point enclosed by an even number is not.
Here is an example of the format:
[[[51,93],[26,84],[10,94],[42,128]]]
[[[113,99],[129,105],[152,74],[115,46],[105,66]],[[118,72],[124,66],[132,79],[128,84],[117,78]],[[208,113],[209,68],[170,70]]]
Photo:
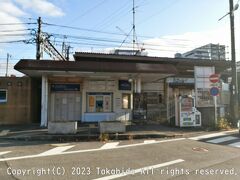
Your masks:
[[[151,56],[173,57],[177,52],[183,53],[207,43],[229,46],[229,17],[218,21],[229,11],[228,3],[229,0],[135,0],[139,47],[145,48]],[[78,38],[65,39],[73,47],[72,52],[108,52],[119,48],[124,39],[124,45],[131,46],[132,33],[127,38],[124,34],[129,34],[132,29],[132,0],[0,0],[0,24],[35,23],[39,16],[45,23],[85,29],[43,25],[43,31],[49,34],[77,36]],[[235,12],[237,38],[239,16],[240,9]],[[31,35],[5,35],[30,33],[30,30],[16,30],[36,28],[37,25],[0,27],[0,42],[9,42],[32,39]],[[51,40],[54,41],[54,38]],[[55,37],[55,40],[58,42],[56,47],[60,50],[63,37]],[[239,45],[240,41],[236,41],[237,50]],[[7,53],[11,55],[12,68],[21,58],[35,58],[35,45],[0,43],[1,76],[5,74]],[[44,57],[49,58],[46,55]],[[10,72],[16,74],[14,71]]]

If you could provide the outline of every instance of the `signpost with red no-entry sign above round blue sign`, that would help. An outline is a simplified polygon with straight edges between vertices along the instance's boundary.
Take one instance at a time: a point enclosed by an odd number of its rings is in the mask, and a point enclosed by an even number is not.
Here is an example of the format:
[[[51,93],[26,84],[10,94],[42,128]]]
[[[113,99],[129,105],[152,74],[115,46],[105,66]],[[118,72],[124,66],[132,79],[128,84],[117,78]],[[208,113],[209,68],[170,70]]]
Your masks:
[[[209,81],[211,84],[210,95],[213,96],[214,100],[214,118],[215,118],[215,125],[217,125],[217,96],[219,95],[219,87],[216,86],[220,79],[219,74],[212,74],[209,76]]]

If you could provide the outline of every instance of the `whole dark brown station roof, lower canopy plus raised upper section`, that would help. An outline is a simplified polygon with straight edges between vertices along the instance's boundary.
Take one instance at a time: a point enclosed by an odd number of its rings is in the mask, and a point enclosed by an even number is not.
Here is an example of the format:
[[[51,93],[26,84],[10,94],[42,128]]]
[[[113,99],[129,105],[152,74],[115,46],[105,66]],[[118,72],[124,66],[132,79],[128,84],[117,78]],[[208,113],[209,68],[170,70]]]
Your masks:
[[[230,61],[75,53],[75,61],[22,59],[14,69],[29,76],[46,72],[110,72],[193,75],[194,66],[215,66],[216,72],[230,68]]]

